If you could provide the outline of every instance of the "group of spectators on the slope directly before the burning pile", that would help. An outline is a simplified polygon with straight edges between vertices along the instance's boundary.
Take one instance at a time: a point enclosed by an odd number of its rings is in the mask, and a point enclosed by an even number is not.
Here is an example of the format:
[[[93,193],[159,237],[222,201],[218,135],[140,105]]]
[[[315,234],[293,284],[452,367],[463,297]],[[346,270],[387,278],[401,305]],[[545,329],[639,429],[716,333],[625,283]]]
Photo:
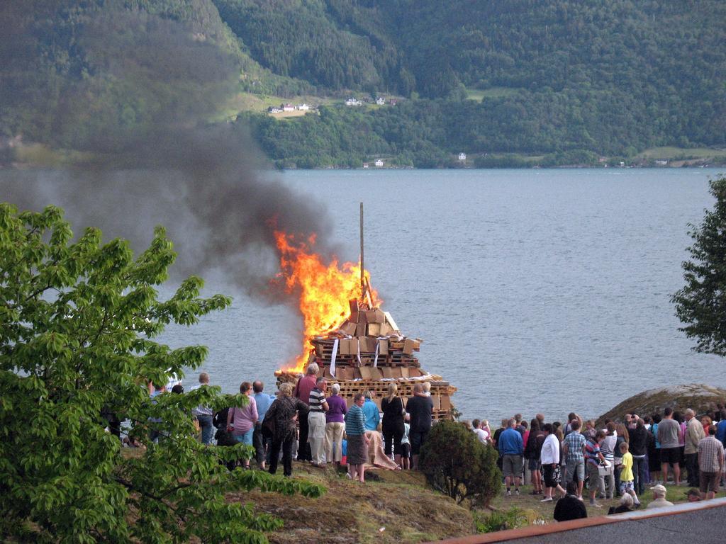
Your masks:
[[[264,392],[260,381],[242,382],[240,394],[248,397],[243,406],[217,413],[198,406],[192,417],[201,442],[253,446],[259,469],[275,474],[282,462],[282,474],[288,477],[293,472],[293,459],[319,468],[347,466],[348,477],[359,482],[365,481],[367,465],[392,470],[417,468],[420,448],[432,424],[430,383],[415,384],[412,397],[406,400],[391,383],[387,395],[380,399],[380,408],[371,391],[355,395],[348,408],[340,397],[340,385],[328,387],[327,379],[317,376],[318,372],[312,363],[296,384],[280,384],[277,395]],[[200,374],[199,382],[195,388],[208,386],[208,374]],[[184,392],[175,379],[163,386],[150,384],[152,400],[170,390]],[[151,427],[149,440],[163,439]],[[242,459],[241,466],[249,469],[250,459]]]

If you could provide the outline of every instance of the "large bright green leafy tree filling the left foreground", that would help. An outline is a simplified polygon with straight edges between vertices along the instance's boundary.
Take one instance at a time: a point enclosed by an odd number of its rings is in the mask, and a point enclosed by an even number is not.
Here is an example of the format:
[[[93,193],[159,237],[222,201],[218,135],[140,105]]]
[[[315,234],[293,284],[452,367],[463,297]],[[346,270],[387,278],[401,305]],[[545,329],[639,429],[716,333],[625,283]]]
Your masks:
[[[147,381],[197,368],[207,349],[153,339],[168,323],[192,325],[230,300],[200,298],[182,282],[166,301],[174,250],[163,228],[137,257],[89,228],[76,242],[62,210],[17,213],[0,204],[0,535],[40,542],[266,541],[280,520],[229,503],[232,490],[317,496],[322,488],[222,464],[248,447],[205,447],[193,437],[195,405],[242,403],[206,387],[163,393]],[[238,404],[239,405],[239,404]],[[122,454],[103,411],[148,442]],[[155,423],[155,421],[160,421]],[[155,429],[158,444],[147,440]]]

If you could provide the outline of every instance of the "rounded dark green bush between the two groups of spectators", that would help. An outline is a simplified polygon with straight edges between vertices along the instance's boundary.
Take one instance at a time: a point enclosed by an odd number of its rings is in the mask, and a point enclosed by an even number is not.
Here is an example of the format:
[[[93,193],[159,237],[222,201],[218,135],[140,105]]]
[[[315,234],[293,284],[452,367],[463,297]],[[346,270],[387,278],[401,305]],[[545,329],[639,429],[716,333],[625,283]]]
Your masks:
[[[439,421],[421,448],[419,468],[434,489],[460,504],[487,506],[502,487],[497,451],[456,421]]]

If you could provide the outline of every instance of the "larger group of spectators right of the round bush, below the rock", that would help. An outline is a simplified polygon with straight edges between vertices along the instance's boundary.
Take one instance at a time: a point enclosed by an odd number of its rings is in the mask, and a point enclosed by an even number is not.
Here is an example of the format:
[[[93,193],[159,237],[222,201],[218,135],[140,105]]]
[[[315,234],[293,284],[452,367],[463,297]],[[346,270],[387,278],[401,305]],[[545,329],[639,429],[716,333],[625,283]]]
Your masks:
[[[538,413],[529,424],[521,414],[503,419],[494,432],[488,421],[475,419],[471,426],[481,442],[497,448],[505,494],[519,495],[527,476],[531,495],[542,495],[543,503],[560,497],[555,506],[559,521],[587,516],[585,487],[594,508],[602,507],[598,498],[620,497],[619,506],[611,508],[620,513],[640,507],[646,486],[653,494],[648,508],[657,508],[672,504],[666,485],[687,483],[693,487],[690,500],[706,500],[726,479],[724,405],[700,417],[690,408],[682,414],[672,408],[651,416],[624,414],[601,429],[576,413],[568,414],[566,424],[545,423]]]

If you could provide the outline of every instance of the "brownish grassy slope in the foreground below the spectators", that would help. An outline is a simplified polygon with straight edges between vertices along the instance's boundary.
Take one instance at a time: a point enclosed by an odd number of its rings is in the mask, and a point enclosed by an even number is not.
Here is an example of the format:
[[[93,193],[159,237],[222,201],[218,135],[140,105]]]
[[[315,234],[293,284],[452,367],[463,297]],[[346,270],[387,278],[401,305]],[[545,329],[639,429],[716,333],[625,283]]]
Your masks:
[[[268,535],[272,543],[418,543],[475,532],[470,511],[433,492],[419,473],[371,470],[364,485],[333,469],[315,469],[307,463],[295,463],[293,474],[325,485],[327,493],[319,499],[259,492],[230,496],[231,500],[252,501],[258,511],[285,520],[284,529]],[[499,495],[492,507],[500,511],[520,508],[532,521],[553,523],[555,503],[540,503],[542,495],[529,495],[531,490],[531,486],[523,486],[521,495]],[[667,490],[673,503],[687,500],[688,487],[668,486]],[[650,495],[646,490],[642,508],[652,500]],[[598,499],[598,503],[602,508],[592,508],[585,500],[588,516],[607,514],[618,499]],[[481,512],[487,514],[489,511]]]

